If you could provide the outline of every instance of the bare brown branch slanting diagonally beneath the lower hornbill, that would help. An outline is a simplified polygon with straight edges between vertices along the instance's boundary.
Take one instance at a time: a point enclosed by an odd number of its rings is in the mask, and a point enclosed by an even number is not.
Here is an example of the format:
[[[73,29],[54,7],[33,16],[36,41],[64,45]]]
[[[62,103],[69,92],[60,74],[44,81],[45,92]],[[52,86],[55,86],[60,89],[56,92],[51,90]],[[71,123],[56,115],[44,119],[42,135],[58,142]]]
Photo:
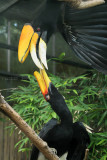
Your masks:
[[[4,100],[0,93],[0,109],[17,125],[17,127],[31,140],[31,142],[49,160],[59,160],[47,143],[44,142],[35,131],[19,116],[17,112]]]

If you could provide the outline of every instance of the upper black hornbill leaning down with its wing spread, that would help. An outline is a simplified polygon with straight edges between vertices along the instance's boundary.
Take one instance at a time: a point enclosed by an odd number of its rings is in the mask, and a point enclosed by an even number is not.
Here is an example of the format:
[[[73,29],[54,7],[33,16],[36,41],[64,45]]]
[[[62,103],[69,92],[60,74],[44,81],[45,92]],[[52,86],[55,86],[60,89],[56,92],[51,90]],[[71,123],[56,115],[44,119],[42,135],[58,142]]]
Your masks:
[[[23,63],[30,51],[39,68],[41,63],[48,68],[47,43],[56,31],[82,61],[107,74],[107,0],[86,9],[76,8],[71,0],[47,0],[39,16],[22,29],[19,61]]]

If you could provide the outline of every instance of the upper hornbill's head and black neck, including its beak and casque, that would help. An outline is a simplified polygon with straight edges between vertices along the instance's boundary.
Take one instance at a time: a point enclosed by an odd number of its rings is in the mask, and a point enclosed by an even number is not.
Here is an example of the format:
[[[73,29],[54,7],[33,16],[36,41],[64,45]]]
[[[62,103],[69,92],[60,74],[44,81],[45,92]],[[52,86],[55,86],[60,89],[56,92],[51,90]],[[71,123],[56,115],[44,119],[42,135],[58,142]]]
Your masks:
[[[60,2],[47,0],[42,12],[31,23],[25,24],[18,46],[18,59],[23,63],[30,52],[31,57],[40,69],[48,69],[46,61],[47,43],[57,29],[60,14]]]

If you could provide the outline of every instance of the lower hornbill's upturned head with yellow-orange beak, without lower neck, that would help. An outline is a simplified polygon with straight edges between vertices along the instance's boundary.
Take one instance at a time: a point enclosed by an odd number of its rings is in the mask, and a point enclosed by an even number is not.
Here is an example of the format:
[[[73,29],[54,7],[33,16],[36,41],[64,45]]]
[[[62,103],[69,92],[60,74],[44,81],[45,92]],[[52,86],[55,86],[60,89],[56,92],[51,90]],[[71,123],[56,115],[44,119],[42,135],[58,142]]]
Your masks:
[[[40,69],[40,73],[35,71],[34,76],[39,84],[40,90],[45,98],[51,104],[59,105],[59,101],[64,102],[63,96],[59,93],[57,88],[52,84],[51,80],[49,79],[44,67]]]

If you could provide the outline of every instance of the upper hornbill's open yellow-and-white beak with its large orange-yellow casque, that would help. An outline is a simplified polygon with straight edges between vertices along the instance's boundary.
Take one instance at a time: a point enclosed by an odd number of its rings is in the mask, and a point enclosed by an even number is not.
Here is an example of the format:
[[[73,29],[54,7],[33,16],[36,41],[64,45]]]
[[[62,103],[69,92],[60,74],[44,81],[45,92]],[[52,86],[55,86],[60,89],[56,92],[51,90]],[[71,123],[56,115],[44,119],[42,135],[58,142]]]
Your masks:
[[[34,32],[34,29],[30,24],[24,25],[18,46],[19,62],[23,63],[27,58],[28,53],[30,52],[32,60],[38,68],[43,69],[43,64],[45,68],[48,69],[46,61],[47,45],[45,41],[42,39],[42,35],[44,35],[44,32],[39,36],[39,33]]]

